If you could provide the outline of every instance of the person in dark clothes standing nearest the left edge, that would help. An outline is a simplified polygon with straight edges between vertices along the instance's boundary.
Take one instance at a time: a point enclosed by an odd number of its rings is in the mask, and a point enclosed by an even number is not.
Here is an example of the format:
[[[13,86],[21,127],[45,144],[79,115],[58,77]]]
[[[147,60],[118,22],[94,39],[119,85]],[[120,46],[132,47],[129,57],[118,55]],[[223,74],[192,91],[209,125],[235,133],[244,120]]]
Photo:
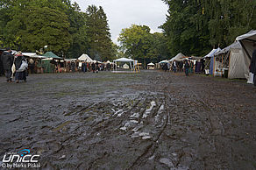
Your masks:
[[[2,61],[4,66],[4,72],[6,81],[11,82],[11,67],[13,65],[14,56],[11,54],[11,48],[6,48],[7,52],[2,53]]]

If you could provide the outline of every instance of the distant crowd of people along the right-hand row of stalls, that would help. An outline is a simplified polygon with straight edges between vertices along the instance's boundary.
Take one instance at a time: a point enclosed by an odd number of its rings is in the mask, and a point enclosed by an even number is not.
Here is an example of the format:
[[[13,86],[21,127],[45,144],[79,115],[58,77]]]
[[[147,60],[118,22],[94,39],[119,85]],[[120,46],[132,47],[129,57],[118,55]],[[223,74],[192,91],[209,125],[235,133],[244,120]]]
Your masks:
[[[196,62],[194,62],[193,60],[174,60],[173,62],[163,63],[161,65],[161,68],[166,72],[185,72],[185,74],[188,76],[188,74],[192,73],[203,74],[205,65],[204,60],[196,60]]]

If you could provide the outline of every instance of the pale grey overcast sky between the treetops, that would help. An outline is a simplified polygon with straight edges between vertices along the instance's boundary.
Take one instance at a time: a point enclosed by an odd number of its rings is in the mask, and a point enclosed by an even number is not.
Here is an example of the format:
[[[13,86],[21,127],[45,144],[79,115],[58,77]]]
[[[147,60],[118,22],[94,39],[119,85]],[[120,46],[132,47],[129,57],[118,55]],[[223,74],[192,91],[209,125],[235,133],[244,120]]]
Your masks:
[[[132,24],[147,25],[152,32],[161,32],[158,28],[166,20],[167,4],[161,0],[72,0],[86,11],[91,4],[102,6],[110,25],[112,40],[117,43],[117,37],[123,28]]]

